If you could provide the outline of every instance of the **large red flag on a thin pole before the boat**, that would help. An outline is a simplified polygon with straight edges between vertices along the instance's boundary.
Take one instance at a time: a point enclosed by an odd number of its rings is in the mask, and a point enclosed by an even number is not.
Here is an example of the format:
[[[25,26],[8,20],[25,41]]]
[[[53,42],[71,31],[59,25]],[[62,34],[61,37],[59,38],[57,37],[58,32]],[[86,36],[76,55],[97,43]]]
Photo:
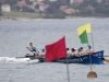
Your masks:
[[[52,60],[60,59],[63,57],[66,57],[64,37],[55,44],[46,46],[46,60],[47,61],[52,61]]]

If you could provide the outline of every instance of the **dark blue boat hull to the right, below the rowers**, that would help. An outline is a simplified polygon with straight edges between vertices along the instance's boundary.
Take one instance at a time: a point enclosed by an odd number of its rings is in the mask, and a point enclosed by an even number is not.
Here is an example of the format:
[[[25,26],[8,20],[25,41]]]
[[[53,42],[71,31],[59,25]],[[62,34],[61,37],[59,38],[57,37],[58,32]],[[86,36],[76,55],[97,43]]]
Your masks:
[[[89,55],[84,55],[84,56],[73,56],[73,57],[68,57],[68,58],[62,58],[56,60],[57,62],[62,62],[62,63],[96,63],[96,65],[102,65],[104,63],[104,50],[97,51],[94,54]],[[92,59],[92,61],[90,61]]]

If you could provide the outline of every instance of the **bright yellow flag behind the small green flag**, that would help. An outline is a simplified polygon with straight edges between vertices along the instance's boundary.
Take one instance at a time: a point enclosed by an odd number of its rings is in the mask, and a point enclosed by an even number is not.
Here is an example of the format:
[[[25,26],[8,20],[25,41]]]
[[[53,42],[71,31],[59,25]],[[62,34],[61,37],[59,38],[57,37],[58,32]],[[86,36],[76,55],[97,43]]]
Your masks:
[[[77,33],[78,35],[81,35],[84,31],[86,31],[86,33],[92,33],[92,27],[90,27],[90,23],[87,23],[85,25],[82,25],[77,28]]]

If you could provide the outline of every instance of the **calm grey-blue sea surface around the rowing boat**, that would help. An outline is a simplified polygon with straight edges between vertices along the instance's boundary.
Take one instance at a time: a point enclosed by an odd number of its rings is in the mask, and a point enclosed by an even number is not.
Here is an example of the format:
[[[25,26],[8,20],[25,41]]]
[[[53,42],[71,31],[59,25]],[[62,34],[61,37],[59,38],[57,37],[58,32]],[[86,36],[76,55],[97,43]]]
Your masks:
[[[76,30],[90,23],[94,50],[105,50],[109,56],[109,19],[0,21],[0,57],[23,57],[29,52],[29,43],[41,49],[65,36],[66,47],[87,49],[81,44]],[[88,42],[93,45],[92,35]],[[109,82],[109,63],[93,65],[97,79],[87,79],[89,65],[69,65],[71,82]],[[68,82],[66,65],[44,63],[0,63],[0,82]]]

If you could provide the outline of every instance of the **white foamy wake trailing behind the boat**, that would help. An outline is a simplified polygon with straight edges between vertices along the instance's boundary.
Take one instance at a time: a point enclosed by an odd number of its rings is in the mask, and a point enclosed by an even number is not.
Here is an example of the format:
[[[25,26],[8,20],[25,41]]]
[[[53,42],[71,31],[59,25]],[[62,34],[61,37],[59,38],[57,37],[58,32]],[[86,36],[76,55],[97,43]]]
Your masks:
[[[0,57],[0,63],[36,63],[38,59],[15,58],[15,57]]]

